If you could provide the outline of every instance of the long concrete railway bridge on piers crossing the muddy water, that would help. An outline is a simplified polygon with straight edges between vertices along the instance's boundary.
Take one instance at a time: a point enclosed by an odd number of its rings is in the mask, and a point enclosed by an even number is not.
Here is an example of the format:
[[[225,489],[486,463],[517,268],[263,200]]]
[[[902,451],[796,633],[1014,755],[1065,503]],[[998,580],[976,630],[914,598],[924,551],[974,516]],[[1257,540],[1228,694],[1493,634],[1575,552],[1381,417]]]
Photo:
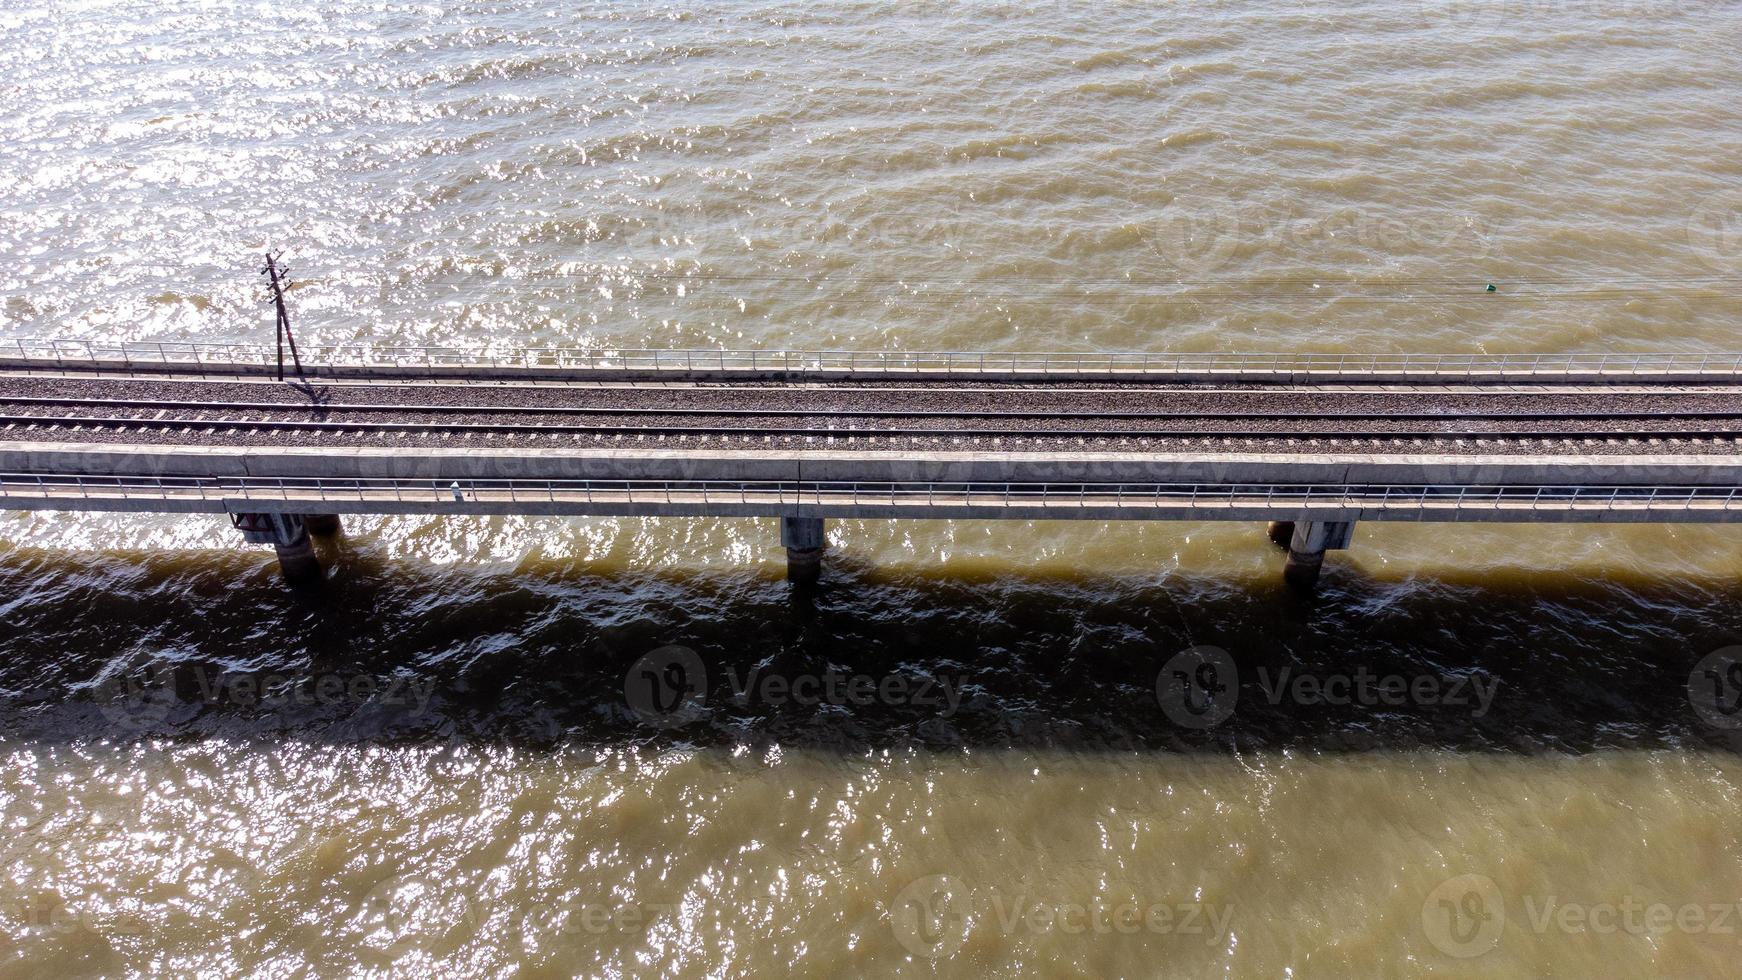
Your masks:
[[[321,576],[343,513],[1742,520],[1742,355],[0,343],[0,507],[226,513]]]

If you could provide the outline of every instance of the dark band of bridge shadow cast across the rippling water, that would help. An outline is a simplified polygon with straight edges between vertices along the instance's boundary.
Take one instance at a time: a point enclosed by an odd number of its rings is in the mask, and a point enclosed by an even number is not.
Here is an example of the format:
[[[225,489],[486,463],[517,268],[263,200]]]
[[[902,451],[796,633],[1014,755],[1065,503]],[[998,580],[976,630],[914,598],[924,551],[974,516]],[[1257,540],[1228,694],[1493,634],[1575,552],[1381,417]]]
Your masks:
[[[362,548],[298,594],[256,555],[14,548],[0,595],[0,740],[26,743],[1742,750],[1742,581],[1338,569],[1298,599],[831,555],[794,594]]]

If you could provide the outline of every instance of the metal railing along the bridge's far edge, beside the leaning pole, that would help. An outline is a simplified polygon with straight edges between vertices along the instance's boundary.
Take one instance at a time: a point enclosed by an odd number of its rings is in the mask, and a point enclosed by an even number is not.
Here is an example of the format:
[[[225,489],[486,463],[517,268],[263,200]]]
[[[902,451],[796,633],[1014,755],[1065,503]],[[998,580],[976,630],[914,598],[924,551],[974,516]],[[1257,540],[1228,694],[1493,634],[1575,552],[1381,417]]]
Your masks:
[[[321,367],[375,369],[563,369],[646,373],[904,373],[976,374],[1432,374],[1554,378],[1739,376],[1742,353],[995,353],[852,350],[629,350],[629,348],[462,348],[315,345],[303,348]],[[268,367],[273,348],[242,343],[92,343],[80,339],[0,341],[0,359],[59,366]]]

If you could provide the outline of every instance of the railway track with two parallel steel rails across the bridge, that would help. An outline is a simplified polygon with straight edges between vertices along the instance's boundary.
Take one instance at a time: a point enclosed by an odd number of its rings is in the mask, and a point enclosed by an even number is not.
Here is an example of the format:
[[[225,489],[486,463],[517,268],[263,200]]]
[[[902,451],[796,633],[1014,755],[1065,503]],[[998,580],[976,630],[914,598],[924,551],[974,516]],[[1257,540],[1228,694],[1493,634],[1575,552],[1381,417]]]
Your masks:
[[[296,437],[317,440],[404,439],[425,440],[927,440],[991,442],[1554,442],[1725,444],[1742,440],[1742,400],[1698,400],[1676,395],[1655,402],[1624,402],[1599,409],[1573,399],[1472,407],[1469,404],[1409,406],[1348,402],[1331,407],[1291,404],[1155,404],[1132,407],[1010,404],[974,407],[922,402],[909,406],[841,406],[801,402],[765,406],[683,404],[430,404],[307,402],[254,399],[181,399],[160,392],[3,393],[0,439],[77,435],[80,439],[186,439],[192,435]],[[665,392],[650,392],[665,397]],[[805,397],[812,397],[807,393]],[[1366,407],[1371,404],[1373,407]]]

